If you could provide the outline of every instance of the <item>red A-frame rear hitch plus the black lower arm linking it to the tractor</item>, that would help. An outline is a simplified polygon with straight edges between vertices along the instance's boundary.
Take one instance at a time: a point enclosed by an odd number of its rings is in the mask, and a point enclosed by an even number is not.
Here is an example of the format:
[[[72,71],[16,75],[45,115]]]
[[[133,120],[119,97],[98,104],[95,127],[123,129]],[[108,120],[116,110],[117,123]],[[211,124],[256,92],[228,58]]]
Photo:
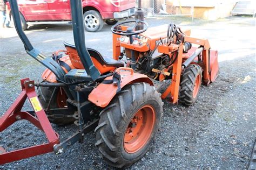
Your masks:
[[[45,133],[49,143],[26,147],[11,152],[6,152],[4,148],[0,146],[0,165],[49,152],[61,154],[77,141],[79,143],[83,143],[85,134],[94,130],[98,125],[99,119],[94,119],[91,122],[87,122],[87,124],[84,126],[83,124],[80,124],[78,125],[79,130],[76,133],[73,133],[72,136],[60,143],[58,133],[53,131],[49,119],[38,100],[34,81],[30,81],[28,78],[22,79],[21,86],[21,94],[0,118],[0,132],[14,124],[16,121],[25,119],[37,126],[38,129],[42,130]],[[26,98],[29,99],[33,111],[21,111]],[[78,123],[81,123],[81,120]]]

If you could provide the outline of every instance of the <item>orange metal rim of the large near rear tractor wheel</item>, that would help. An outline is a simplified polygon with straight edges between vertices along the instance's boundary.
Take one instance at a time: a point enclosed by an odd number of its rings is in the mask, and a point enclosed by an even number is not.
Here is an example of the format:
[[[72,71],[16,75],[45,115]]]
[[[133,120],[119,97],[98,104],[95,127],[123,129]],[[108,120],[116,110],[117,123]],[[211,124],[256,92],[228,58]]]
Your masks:
[[[143,148],[151,137],[156,113],[151,105],[144,105],[132,117],[124,135],[124,149],[135,153]]]

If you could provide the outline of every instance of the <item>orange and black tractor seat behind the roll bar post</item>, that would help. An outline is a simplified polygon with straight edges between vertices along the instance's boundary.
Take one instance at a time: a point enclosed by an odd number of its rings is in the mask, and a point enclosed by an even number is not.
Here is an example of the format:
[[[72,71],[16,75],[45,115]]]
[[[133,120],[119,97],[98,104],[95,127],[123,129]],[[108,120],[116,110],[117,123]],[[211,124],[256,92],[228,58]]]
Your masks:
[[[63,42],[63,44],[66,48],[66,51],[69,53],[72,65],[77,69],[84,69],[84,66],[83,66],[82,62],[80,61],[80,58],[76,51],[76,46],[74,44],[71,44],[70,42],[66,42],[66,41]],[[110,72],[110,70],[114,70],[118,67],[124,67],[123,62],[114,60],[112,58],[103,57],[95,49],[87,48],[87,51],[89,52],[89,54],[91,56],[93,64],[99,70],[99,72],[101,74]]]

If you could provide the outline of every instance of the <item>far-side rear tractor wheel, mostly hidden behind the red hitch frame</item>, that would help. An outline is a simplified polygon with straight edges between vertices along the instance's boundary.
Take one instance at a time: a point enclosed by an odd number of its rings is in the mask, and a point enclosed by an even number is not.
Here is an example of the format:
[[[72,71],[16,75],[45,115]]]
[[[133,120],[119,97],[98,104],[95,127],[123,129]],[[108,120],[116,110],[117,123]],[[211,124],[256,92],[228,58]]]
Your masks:
[[[39,87],[38,88],[38,99],[42,104],[44,110],[47,109],[48,103],[50,101],[51,95],[53,93],[53,87]],[[65,108],[66,105],[66,94],[63,89],[59,88],[55,96],[53,96],[52,101],[50,103],[49,109],[58,109],[58,108]],[[48,114],[48,113],[46,113]],[[72,115],[72,114],[71,114]],[[75,118],[52,118],[48,117],[51,123],[54,123],[59,126],[68,125],[74,123],[76,120]]]

